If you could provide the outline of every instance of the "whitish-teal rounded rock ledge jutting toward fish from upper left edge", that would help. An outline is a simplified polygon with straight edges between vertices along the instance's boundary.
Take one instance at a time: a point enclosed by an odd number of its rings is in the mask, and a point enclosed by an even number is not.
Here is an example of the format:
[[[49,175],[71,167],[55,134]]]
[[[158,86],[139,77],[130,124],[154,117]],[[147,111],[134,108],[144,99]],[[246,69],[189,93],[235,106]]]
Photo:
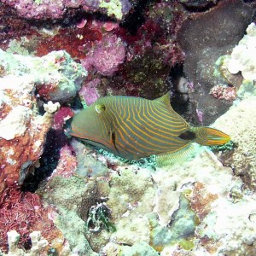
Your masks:
[[[6,76],[22,77],[35,84],[45,100],[66,101],[81,88],[87,73],[65,51],[55,51],[42,58],[12,55],[0,51]],[[34,90],[34,88],[33,88]]]

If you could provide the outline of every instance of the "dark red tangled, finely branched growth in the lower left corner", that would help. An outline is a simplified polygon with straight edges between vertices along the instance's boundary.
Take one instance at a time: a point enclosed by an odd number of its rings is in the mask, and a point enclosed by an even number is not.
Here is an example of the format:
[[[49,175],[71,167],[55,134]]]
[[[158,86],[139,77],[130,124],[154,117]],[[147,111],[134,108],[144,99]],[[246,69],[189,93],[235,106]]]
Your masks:
[[[29,241],[32,224],[42,219],[42,202],[37,194],[21,192],[19,186],[9,187],[0,196],[0,248],[7,250],[7,232],[20,234],[20,245]]]

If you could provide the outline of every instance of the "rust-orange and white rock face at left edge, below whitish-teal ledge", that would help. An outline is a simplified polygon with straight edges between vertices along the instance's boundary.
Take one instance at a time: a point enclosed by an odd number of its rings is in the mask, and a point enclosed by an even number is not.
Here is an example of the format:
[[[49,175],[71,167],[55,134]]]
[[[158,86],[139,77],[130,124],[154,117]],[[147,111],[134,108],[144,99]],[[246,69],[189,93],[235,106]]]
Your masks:
[[[26,77],[1,79],[1,189],[16,182],[23,183],[43,153],[44,139],[52,125],[59,103],[44,105],[45,113],[37,113],[34,84]]]

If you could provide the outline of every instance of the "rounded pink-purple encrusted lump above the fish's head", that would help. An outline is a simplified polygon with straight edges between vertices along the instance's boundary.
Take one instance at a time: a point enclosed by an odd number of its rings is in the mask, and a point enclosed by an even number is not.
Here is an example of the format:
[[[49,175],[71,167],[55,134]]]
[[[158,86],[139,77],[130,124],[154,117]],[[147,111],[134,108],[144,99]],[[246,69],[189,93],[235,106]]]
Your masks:
[[[93,44],[89,54],[81,61],[86,70],[93,68],[103,76],[112,76],[125,61],[125,44],[115,35],[107,35]]]

